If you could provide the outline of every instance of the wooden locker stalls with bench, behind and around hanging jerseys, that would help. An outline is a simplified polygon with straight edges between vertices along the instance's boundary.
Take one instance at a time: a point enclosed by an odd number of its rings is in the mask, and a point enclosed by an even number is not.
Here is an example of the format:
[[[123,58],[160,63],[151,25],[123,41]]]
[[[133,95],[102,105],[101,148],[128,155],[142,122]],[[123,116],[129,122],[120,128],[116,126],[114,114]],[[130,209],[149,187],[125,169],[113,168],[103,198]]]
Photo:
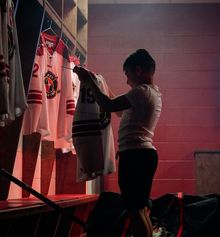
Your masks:
[[[15,16],[24,88],[27,94],[42,31],[63,40],[81,64],[87,59],[87,0],[17,0]],[[22,116],[0,128],[0,168],[86,220],[97,199],[76,182],[76,155],[41,141],[40,134],[23,136]],[[68,194],[68,195],[66,195]],[[63,219],[30,193],[0,177],[0,236],[81,236],[82,228]],[[13,217],[10,211],[13,212]]]

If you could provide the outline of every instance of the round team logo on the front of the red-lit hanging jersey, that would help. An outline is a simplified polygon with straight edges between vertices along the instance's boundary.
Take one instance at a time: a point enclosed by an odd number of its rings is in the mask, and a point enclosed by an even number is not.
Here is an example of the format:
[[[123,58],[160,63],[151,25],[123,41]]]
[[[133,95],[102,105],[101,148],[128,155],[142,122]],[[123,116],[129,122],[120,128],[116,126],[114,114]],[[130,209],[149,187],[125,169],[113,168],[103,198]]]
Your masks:
[[[57,76],[55,76],[52,72],[48,71],[45,74],[44,83],[46,87],[47,98],[54,98],[57,94],[58,87]]]

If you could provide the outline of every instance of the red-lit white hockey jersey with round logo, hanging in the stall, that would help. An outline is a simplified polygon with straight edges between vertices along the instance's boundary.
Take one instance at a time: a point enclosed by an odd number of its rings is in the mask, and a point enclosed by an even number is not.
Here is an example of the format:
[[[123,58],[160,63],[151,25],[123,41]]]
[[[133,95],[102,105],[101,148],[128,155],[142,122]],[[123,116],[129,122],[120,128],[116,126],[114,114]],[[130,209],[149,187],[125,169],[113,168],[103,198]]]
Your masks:
[[[75,110],[74,73],[64,43],[41,34],[28,91],[23,133],[39,132],[55,148],[70,148]]]

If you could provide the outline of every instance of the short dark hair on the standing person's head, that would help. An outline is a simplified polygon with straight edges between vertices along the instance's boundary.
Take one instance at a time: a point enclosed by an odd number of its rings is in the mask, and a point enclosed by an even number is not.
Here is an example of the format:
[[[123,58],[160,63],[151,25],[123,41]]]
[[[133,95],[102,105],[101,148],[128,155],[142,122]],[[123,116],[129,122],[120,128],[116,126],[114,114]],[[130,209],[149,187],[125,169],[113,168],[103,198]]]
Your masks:
[[[130,69],[134,72],[137,66],[140,66],[144,71],[154,73],[156,63],[147,50],[137,49],[125,60],[123,70]]]

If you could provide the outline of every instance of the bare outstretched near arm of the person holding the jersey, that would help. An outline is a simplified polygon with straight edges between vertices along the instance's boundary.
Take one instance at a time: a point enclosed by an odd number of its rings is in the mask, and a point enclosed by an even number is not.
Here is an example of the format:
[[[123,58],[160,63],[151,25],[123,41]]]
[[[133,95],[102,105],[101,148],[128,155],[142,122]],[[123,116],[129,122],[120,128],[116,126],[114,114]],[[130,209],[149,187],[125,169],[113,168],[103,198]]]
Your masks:
[[[96,102],[103,110],[107,112],[117,112],[131,107],[129,100],[124,95],[111,99],[107,95],[102,93],[102,91],[100,90],[95,81],[94,78],[95,76],[86,69],[81,67],[80,68],[75,67],[74,72],[77,73],[79,79],[83,83],[87,83],[89,85],[90,89],[93,92]]]

